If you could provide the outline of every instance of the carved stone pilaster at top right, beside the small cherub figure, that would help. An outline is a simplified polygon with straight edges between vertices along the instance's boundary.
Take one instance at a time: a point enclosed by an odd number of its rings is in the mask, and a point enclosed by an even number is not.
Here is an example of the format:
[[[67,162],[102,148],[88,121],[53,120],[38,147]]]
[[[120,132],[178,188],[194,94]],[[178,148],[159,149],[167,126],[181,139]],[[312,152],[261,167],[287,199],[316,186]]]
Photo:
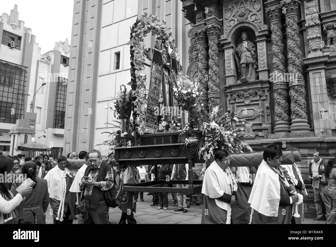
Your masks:
[[[308,41],[308,57],[321,56],[323,53],[321,48],[321,22],[319,16],[319,1],[305,0],[304,15],[306,20],[307,41]]]

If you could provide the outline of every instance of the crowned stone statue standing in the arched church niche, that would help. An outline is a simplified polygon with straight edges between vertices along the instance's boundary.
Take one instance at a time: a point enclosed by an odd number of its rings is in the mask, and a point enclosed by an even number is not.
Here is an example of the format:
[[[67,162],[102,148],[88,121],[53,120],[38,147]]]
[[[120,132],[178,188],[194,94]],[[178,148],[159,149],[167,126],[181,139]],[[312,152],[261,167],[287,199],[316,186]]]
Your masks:
[[[240,78],[247,81],[256,80],[257,48],[248,40],[247,32],[242,32],[242,42],[234,49]],[[238,56],[237,56],[238,54]],[[241,80],[243,81],[243,80]]]

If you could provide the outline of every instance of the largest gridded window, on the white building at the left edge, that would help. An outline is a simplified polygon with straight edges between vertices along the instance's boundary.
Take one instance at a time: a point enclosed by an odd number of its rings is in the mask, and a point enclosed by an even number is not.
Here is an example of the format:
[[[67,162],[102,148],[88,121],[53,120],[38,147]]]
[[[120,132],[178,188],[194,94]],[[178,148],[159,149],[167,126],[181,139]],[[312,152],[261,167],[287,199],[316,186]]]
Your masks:
[[[0,60],[0,122],[13,123],[23,115],[27,67]]]

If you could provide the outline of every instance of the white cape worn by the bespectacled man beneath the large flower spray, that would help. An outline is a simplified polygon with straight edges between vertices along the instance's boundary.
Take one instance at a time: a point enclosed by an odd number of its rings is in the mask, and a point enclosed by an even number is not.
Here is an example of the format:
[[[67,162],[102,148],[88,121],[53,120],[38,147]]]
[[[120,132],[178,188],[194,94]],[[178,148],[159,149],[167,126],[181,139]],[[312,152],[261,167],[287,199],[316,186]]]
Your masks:
[[[231,185],[231,186],[230,186]],[[231,187],[233,190],[231,190]],[[212,162],[205,170],[203,178],[202,193],[210,198],[221,197],[224,193],[232,195],[232,191],[237,191],[237,181],[230,168],[225,172],[219,167],[216,161]],[[224,210],[231,206],[221,200],[215,199],[216,205]]]

